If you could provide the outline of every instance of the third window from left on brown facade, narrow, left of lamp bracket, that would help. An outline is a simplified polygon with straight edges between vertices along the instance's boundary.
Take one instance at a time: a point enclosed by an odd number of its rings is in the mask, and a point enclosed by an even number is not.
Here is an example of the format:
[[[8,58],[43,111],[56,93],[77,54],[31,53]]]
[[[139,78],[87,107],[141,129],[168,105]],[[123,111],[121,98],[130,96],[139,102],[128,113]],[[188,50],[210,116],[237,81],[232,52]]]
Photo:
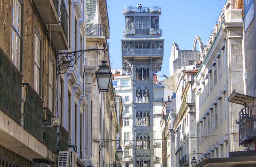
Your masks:
[[[52,57],[49,56],[49,104],[48,104],[48,107],[54,113],[54,110],[53,110],[54,109],[53,108],[53,106],[54,106],[54,104],[53,104],[53,102],[54,102],[54,100],[53,100],[54,99],[53,66],[54,66],[54,62],[52,60]]]

